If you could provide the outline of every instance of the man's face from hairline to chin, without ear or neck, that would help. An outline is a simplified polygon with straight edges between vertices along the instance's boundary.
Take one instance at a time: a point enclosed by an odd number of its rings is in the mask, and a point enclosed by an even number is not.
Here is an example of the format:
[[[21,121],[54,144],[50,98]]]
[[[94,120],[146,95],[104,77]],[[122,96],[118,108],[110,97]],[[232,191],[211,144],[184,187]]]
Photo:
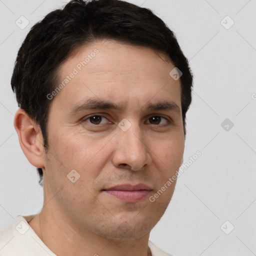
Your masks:
[[[110,40],[79,48],[61,65],[60,83],[67,75],[70,80],[50,103],[44,196],[71,226],[108,238],[138,238],[164,213],[175,182],[153,202],[149,197],[178,170],[184,149],[181,85],[169,75],[173,68],[149,48]],[[120,109],[75,110],[89,99]],[[147,108],[164,101],[179,111]],[[150,190],[105,190],[138,183]]]

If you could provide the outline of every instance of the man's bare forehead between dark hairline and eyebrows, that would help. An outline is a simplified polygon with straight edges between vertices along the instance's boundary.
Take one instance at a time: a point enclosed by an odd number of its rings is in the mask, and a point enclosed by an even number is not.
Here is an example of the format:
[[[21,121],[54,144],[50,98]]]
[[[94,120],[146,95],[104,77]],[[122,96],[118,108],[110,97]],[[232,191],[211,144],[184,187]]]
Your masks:
[[[68,82],[57,98],[75,104],[86,97],[111,98],[118,102],[150,98],[157,101],[158,97],[179,105],[181,84],[180,79],[170,77],[173,68],[167,56],[148,47],[112,40],[90,43],[73,51],[60,66],[59,82],[64,79]]]

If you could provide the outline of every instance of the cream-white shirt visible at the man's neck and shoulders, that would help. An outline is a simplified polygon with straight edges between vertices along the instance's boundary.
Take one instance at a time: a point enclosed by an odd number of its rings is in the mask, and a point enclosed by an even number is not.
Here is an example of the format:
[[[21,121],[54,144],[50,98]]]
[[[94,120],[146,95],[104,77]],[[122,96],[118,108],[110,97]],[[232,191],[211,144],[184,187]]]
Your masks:
[[[56,256],[27,223],[34,216],[17,215],[10,226],[0,231],[0,256]],[[151,241],[148,241],[148,247],[152,256],[171,256]]]

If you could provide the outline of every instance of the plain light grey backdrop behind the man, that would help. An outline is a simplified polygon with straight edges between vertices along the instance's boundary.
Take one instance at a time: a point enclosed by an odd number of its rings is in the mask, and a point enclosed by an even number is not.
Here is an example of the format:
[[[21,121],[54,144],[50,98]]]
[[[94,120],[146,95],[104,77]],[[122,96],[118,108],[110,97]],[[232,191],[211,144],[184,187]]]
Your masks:
[[[256,253],[256,1],[129,0],[167,22],[194,73],[187,112],[184,162],[171,202],[149,239],[173,256]],[[13,127],[17,103],[10,78],[18,48],[31,26],[61,0],[0,0],[0,229],[17,214],[37,213],[42,188]],[[29,25],[20,29],[21,16]],[[226,16],[234,24],[226,29]],[[228,26],[230,20],[222,23]],[[255,94],[253,94],[255,93]],[[226,131],[228,118],[234,126]],[[228,220],[234,229],[225,234]],[[228,231],[230,224],[224,225]]]

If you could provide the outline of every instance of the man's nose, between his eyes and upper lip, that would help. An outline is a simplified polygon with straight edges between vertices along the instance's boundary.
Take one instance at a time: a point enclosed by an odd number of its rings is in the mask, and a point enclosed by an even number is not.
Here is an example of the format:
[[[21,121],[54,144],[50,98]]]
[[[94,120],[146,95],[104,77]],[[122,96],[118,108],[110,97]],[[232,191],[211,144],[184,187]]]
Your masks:
[[[137,171],[143,170],[152,162],[151,149],[147,146],[145,134],[135,122],[126,131],[118,128],[115,140],[112,157],[115,167]]]

